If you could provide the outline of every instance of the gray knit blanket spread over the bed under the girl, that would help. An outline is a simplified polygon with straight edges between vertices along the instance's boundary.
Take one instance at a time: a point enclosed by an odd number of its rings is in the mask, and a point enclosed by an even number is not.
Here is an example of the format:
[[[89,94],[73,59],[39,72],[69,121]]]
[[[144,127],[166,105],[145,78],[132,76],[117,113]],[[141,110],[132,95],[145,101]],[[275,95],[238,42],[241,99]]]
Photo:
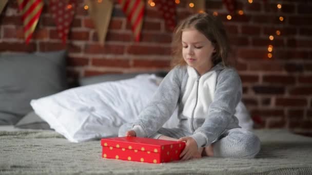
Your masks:
[[[0,131],[0,174],[312,174],[312,138],[255,130],[255,159],[206,157],[163,164],[102,158],[100,140],[70,143],[48,130]]]

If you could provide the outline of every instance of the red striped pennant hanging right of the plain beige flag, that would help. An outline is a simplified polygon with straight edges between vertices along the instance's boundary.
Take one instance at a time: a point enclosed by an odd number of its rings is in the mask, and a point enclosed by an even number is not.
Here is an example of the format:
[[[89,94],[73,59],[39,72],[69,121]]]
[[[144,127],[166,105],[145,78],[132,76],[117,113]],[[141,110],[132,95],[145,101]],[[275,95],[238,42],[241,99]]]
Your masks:
[[[123,12],[132,26],[136,41],[140,41],[145,4],[142,0],[119,0]]]

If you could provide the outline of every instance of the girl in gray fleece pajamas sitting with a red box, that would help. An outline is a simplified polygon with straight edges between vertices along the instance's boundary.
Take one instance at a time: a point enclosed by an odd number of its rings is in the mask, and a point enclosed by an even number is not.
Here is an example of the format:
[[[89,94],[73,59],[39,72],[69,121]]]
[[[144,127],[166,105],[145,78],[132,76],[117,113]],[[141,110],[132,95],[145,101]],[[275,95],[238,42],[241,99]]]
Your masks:
[[[237,71],[228,67],[228,39],[217,16],[184,19],[173,34],[175,67],[166,75],[139,119],[120,127],[119,136],[184,141],[181,160],[201,156],[253,158],[260,140],[238,125],[242,97]],[[178,105],[177,128],[163,128]]]

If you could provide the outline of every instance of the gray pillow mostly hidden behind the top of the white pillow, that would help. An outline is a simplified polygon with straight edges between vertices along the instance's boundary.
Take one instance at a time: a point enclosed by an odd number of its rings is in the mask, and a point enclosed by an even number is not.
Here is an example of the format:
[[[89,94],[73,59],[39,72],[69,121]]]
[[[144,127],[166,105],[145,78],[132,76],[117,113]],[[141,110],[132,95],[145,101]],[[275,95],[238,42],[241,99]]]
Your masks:
[[[96,75],[91,77],[83,77],[79,79],[80,85],[89,85],[106,81],[117,81],[117,80],[125,80],[129,78],[134,78],[139,74],[155,74],[158,77],[165,77],[167,72],[165,71],[155,71],[155,72],[136,72],[136,73],[125,73],[125,74],[104,74],[104,75]]]

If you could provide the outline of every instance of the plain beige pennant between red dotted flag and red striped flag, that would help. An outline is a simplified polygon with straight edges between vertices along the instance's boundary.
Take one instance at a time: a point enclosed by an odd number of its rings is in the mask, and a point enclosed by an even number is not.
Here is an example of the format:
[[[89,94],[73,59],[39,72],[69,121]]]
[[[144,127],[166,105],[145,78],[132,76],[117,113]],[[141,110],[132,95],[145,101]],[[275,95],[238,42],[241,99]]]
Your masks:
[[[97,35],[99,37],[99,42],[103,46],[110,22],[111,13],[113,11],[113,2],[110,0],[86,0],[85,4],[89,7],[88,11],[95,25]]]

